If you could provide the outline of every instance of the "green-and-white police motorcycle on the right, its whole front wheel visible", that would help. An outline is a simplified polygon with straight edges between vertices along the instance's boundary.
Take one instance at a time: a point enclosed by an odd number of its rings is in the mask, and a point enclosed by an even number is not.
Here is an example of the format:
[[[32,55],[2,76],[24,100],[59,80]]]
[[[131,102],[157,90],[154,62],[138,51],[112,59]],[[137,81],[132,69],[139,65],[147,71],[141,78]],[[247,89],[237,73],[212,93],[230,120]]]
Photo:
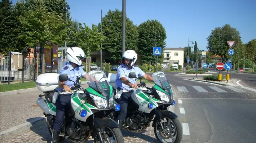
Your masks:
[[[136,78],[135,72],[130,72],[129,78]],[[157,140],[161,143],[179,143],[182,139],[182,127],[178,116],[167,107],[173,106],[173,93],[163,71],[152,75],[155,85],[152,88],[141,82],[128,101],[128,109],[123,129],[142,133],[149,127],[151,121]],[[132,88],[132,87],[129,87]],[[120,98],[122,89],[116,89],[115,100]],[[117,121],[119,111],[114,111],[109,116]]]

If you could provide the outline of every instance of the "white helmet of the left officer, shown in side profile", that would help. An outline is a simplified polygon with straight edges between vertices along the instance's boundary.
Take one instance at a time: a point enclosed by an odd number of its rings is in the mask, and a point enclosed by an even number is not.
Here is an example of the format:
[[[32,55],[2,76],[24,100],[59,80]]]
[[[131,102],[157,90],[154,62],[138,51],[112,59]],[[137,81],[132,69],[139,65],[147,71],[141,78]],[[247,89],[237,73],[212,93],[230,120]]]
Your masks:
[[[86,58],[84,51],[79,47],[69,47],[67,49],[67,60],[69,62],[75,63],[78,66],[82,65],[82,59]]]

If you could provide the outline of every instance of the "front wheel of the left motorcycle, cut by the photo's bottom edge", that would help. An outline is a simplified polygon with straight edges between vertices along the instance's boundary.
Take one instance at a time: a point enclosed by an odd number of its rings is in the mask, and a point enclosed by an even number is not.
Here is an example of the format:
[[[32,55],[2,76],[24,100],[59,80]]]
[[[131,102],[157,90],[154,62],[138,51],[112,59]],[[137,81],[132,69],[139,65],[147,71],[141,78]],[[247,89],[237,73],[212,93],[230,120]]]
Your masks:
[[[124,137],[119,128],[111,128],[108,125],[102,125],[100,130],[103,142],[100,141],[97,133],[94,138],[95,143],[124,143]]]

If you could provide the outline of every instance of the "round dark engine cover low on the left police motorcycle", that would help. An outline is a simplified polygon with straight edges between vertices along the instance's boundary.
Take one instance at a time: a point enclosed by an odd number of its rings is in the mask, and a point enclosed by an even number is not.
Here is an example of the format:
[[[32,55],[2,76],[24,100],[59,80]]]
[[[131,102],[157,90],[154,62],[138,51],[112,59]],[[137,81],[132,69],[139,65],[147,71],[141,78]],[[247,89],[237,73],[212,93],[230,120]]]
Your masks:
[[[66,132],[67,132],[68,136],[73,139],[78,139],[80,130],[81,130],[80,125],[76,122],[72,122],[66,128]]]

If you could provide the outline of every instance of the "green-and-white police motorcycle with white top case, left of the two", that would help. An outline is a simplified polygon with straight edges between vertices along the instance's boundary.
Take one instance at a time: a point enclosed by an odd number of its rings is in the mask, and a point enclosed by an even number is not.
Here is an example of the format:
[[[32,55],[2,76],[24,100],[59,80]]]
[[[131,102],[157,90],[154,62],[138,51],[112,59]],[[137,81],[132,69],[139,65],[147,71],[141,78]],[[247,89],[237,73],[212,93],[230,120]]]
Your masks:
[[[104,71],[93,70],[88,74],[91,76],[90,79],[86,78],[88,88],[84,89],[80,86],[78,82],[80,77],[77,77],[75,87],[71,88],[71,108],[66,112],[59,140],[67,139],[68,141],[83,143],[92,136],[95,143],[124,143],[122,133],[118,128],[119,125],[107,117],[111,112],[120,110],[120,105],[114,102],[113,88],[108,84]],[[108,72],[106,74],[108,75]],[[43,95],[39,95],[37,105],[47,117],[48,130],[51,135],[56,116],[56,107],[52,101],[56,101],[58,97],[55,96],[56,94],[61,96],[61,94],[69,92],[60,93],[56,91],[56,88],[55,92],[50,91],[49,88],[53,89],[53,85],[56,85],[58,81],[55,83],[40,83],[40,81],[45,81],[47,76],[49,80],[57,79],[57,75],[59,76],[59,74],[54,73],[41,74],[36,81],[38,89],[44,92]],[[69,80],[68,75],[60,75],[59,80],[61,82]],[[45,96],[45,99],[42,96]]]

